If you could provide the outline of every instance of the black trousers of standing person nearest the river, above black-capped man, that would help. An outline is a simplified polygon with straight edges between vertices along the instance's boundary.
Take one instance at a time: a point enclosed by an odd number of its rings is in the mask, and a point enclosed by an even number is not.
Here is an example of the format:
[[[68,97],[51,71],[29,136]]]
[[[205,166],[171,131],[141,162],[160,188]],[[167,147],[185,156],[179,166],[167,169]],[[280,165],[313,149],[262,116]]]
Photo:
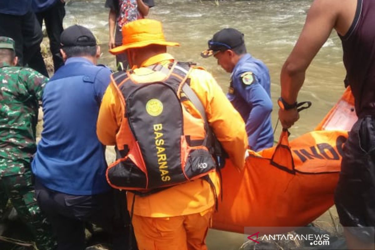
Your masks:
[[[63,19],[65,17],[65,3],[57,0],[53,6],[42,12],[36,13],[36,17],[40,24],[40,27],[42,27],[44,20],[47,35],[49,38],[49,48],[52,54],[54,72],[56,72],[58,68],[64,65],[63,58],[60,55],[60,35],[64,30]],[[39,71],[43,75],[48,76],[40,49],[31,59],[29,66]]]

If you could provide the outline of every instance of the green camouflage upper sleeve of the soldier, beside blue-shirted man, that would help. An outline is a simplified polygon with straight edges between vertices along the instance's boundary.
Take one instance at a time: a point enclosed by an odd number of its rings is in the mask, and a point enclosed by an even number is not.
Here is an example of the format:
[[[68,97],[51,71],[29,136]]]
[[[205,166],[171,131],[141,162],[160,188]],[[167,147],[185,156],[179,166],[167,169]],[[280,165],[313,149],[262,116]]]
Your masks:
[[[42,101],[43,89],[49,79],[30,68],[23,68],[18,77],[24,82],[29,93],[35,96],[36,100]]]

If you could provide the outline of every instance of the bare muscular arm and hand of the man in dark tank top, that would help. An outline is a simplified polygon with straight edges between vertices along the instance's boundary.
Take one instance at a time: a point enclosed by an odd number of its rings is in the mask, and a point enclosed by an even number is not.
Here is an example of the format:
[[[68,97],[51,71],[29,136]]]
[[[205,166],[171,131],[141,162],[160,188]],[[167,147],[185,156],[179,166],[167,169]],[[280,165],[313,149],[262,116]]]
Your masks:
[[[281,70],[281,97],[287,103],[297,101],[307,68],[335,27],[338,4],[337,0],[315,0],[312,3],[300,37]],[[299,116],[296,110],[289,110],[279,111],[279,118],[283,127],[288,128]]]

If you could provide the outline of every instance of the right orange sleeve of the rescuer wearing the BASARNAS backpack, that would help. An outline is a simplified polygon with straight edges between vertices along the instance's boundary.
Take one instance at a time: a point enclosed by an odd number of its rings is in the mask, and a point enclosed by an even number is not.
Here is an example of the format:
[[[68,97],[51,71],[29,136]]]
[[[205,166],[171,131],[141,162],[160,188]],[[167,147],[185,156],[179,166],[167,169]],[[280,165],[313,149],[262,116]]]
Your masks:
[[[234,166],[242,170],[245,165],[248,136],[241,115],[226,98],[210,73],[202,69],[193,69],[190,80],[190,87],[203,103],[208,123],[217,139]]]

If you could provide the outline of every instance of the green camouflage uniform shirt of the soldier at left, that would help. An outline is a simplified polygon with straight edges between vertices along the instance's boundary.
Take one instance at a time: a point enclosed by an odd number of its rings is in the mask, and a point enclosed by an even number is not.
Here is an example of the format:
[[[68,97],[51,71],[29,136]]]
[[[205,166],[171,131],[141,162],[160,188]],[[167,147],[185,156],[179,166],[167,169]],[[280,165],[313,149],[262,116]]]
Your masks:
[[[47,81],[33,69],[0,63],[0,177],[22,174],[30,164]]]

